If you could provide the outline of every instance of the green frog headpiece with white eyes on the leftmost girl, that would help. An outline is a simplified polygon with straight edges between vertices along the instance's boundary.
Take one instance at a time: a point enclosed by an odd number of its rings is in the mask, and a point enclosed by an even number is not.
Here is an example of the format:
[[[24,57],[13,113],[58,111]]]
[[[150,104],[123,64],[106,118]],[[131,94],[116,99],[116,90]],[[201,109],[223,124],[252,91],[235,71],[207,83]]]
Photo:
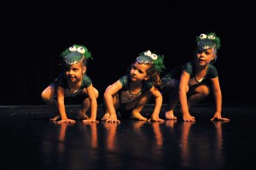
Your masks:
[[[67,65],[75,65],[82,61],[83,59],[93,59],[90,56],[90,51],[85,48],[84,45],[74,44],[72,47],[67,48],[65,51],[61,53],[61,57],[63,62]]]

